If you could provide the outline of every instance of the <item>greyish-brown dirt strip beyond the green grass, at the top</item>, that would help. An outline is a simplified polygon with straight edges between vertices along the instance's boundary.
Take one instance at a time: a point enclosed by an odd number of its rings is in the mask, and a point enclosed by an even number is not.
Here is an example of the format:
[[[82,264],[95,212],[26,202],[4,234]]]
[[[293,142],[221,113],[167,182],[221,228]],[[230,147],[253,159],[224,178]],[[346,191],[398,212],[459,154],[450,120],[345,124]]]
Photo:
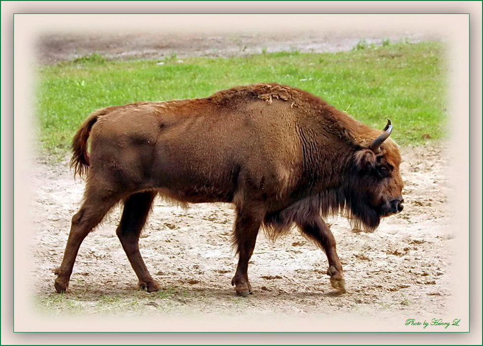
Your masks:
[[[388,31],[306,32],[273,34],[206,33],[131,33],[117,35],[56,34],[38,39],[37,59],[42,64],[70,60],[93,53],[110,59],[158,59],[176,54],[187,56],[229,57],[261,52],[291,51],[334,52],[350,50],[361,40],[367,44],[381,44],[401,40],[418,42],[439,39],[421,33],[395,33]]]

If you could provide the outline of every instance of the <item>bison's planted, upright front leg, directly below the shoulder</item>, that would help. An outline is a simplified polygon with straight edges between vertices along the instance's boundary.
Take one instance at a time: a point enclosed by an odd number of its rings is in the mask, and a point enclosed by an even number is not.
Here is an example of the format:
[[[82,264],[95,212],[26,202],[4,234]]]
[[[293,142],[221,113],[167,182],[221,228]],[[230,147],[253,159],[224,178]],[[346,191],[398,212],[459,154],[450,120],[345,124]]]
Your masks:
[[[236,294],[242,297],[252,294],[252,286],[248,281],[248,261],[255,249],[261,217],[260,213],[251,213],[245,209],[238,210],[235,220],[233,243],[237,246],[238,266],[231,284],[235,286]]]

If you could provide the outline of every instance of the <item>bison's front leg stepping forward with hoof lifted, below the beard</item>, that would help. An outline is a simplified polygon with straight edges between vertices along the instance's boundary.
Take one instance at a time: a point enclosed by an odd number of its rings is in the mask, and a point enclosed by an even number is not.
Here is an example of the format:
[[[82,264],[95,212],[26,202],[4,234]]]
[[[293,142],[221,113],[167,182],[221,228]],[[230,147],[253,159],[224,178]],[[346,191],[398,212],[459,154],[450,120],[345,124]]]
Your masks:
[[[298,223],[303,234],[313,239],[326,253],[329,261],[327,275],[331,277],[332,287],[345,293],[345,280],[342,263],[335,252],[335,238],[329,226],[319,215],[310,216],[305,222]]]

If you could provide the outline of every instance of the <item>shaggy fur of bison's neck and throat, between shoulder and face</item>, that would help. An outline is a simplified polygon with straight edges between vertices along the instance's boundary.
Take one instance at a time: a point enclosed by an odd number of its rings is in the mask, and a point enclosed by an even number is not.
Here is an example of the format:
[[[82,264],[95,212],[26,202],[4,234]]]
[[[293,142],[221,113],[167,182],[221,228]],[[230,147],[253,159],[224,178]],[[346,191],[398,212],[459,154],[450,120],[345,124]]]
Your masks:
[[[297,196],[293,197],[297,202],[265,216],[268,236],[276,238],[288,232],[294,223],[310,222],[313,215],[342,214],[354,228],[373,231],[380,222],[379,212],[368,205],[370,196],[350,182],[357,182],[357,173],[353,172],[355,152],[380,131],[359,123],[318,97],[307,101],[312,105],[313,116],[297,129],[303,156],[299,186],[303,190],[296,189]]]

